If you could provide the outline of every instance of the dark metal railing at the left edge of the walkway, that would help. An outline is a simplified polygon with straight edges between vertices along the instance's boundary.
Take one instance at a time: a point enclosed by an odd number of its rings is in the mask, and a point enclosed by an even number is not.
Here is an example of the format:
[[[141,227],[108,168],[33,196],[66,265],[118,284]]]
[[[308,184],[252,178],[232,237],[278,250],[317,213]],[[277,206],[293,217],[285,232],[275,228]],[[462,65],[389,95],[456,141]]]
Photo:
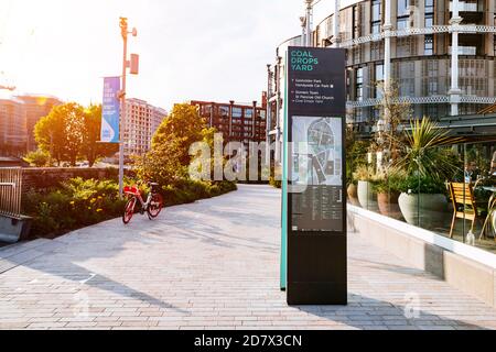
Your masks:
[[[21,217],[22,168],[0,167],[0,216]]]

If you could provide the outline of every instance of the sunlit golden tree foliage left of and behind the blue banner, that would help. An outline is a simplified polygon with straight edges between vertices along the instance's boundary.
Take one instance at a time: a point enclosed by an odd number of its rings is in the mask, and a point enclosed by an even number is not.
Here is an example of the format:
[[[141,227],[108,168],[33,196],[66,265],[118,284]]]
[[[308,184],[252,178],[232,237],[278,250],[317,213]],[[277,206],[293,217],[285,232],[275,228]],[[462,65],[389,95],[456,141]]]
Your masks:
[[[48,153],[61,165],[72,166],[87,160],[93,166],[97,158],[110,156],[117,146],[99,143],[101,106],[87,109],[75,102],[54,107],[48,116],[34,127],[34,136],[41,151]]]

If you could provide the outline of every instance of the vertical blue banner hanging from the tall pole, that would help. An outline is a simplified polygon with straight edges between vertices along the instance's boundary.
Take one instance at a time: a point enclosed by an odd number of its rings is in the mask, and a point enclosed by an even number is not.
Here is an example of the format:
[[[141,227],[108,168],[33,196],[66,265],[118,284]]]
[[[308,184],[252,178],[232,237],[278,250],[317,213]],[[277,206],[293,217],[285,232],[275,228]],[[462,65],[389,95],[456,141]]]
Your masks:
[[[120,77],[104,80],[104,103],[101,107],[101,142],[119,143]]]

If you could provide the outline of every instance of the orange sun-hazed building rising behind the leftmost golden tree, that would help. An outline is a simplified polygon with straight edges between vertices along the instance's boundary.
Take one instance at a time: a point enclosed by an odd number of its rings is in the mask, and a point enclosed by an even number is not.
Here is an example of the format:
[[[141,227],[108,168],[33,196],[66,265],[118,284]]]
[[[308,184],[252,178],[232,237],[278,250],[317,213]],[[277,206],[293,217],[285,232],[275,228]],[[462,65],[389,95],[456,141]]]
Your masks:
[[[36,150],[34,125],[41,118],[46,117],[53,107],[61,105],[62,101],[55,97],[44,95],[23,95],[15,98],[24,102],[28,133],[26,150],[31,152]]]

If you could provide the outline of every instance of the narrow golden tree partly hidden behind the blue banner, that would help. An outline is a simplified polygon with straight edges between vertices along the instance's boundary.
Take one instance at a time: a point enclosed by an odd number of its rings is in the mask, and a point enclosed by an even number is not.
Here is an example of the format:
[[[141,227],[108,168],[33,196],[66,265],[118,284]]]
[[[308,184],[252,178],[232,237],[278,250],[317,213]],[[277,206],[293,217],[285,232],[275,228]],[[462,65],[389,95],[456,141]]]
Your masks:
[[[119,145],[100,143],[101,105],[91,105],[84,111],[84,129],[80,155],[89,163],[89,167],[100,157],[111,156],[119,151]]]

